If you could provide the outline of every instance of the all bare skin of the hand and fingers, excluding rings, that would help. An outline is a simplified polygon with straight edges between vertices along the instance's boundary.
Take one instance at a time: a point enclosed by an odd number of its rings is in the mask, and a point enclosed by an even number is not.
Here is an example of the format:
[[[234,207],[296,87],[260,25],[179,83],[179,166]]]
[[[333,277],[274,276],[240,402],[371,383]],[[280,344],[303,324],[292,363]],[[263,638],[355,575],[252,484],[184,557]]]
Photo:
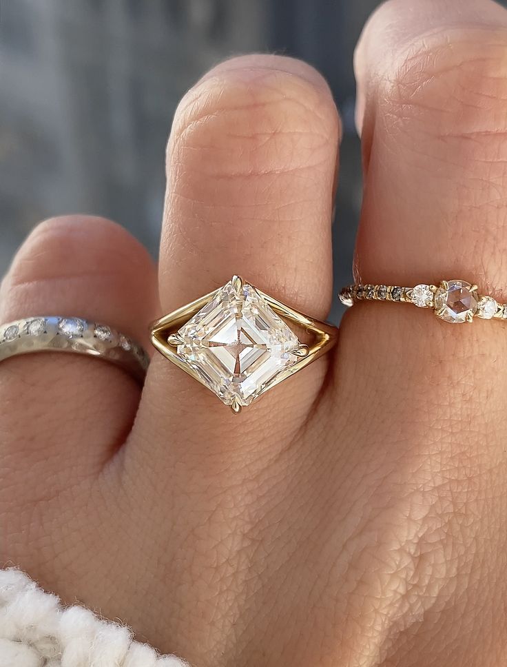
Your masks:
[[[507,301],[507,13],[391,0],[360,39],[366,283]],[[340,122],[309,65],[252,55],[180,103],[158,269],[101,218],[41,223],[0,321],[147,322],[244,276],[329,310]],[[357,305],[334,353],[237,417],[154,356],[141,393],[79,356],[0,373],[0,560],[198,667],[500,667],[507,338]]]

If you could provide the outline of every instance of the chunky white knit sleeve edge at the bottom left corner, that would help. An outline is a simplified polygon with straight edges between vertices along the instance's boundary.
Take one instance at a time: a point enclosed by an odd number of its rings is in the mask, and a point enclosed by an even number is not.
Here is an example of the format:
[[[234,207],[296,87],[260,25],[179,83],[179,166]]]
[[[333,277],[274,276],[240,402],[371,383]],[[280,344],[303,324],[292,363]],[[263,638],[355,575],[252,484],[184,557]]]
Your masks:
[[[0,570],[0,667],[188,667],[116,623],[63,607],[18,570]]]

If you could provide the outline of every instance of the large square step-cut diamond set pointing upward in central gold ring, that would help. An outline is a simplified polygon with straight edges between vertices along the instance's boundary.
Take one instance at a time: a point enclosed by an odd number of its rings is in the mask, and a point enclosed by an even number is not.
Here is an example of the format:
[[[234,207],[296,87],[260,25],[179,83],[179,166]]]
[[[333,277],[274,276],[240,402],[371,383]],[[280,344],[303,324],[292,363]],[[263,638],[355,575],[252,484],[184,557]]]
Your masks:
[[[232,281],[178,331],[178,356],[218,398],[248,405],[295,364],[298,337],[251,285]]]

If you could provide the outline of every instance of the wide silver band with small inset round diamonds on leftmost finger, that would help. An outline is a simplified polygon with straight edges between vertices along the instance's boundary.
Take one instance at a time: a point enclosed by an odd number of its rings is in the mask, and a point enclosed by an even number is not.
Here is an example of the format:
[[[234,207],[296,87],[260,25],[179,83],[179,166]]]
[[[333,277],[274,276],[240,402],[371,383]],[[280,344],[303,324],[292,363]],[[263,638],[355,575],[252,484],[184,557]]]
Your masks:
[[[149,356],[145,349],[107,325],[83,318],[35,316],[0,325],[0,362],[33,352],[73,352],[103,359],[143,382]]]

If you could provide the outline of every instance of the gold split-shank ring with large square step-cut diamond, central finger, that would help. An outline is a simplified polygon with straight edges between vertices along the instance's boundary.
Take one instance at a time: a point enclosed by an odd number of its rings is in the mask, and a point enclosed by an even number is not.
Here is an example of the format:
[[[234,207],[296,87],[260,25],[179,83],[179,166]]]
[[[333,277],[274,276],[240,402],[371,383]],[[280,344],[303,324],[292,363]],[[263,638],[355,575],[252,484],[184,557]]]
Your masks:
[[[302,342],[287,322],[313,340]],[[163,356],[239,413],[331,349],[338,329],[233,276],[154,322],[151,332]]]

